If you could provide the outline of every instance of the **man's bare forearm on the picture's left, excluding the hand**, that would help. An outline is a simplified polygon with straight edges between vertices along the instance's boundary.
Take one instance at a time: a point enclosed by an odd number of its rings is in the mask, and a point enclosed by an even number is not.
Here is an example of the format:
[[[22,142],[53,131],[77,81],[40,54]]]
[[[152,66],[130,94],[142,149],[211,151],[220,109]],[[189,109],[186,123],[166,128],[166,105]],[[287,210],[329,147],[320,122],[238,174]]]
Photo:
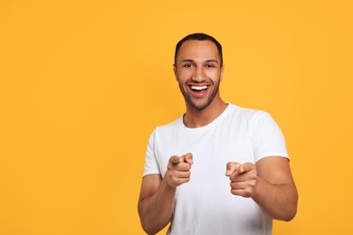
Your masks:
[[[142,228],[148,234],[155,234],[167,226],[173,213],[176,188],[163,180],[152,196],[138,202],[138,213]]]

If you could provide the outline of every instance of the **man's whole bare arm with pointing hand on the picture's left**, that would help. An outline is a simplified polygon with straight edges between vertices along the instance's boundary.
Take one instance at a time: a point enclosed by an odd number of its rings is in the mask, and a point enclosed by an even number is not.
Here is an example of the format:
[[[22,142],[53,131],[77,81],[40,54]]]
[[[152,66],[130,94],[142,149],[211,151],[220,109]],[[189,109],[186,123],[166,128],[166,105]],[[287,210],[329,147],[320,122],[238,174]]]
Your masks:
[[[172,156],[167,173],[148,174],[142,179],[138,199],[138,214],[143,230],[155,234],[167,226],[172,218],[176,187],[190,180],[192,155]]]

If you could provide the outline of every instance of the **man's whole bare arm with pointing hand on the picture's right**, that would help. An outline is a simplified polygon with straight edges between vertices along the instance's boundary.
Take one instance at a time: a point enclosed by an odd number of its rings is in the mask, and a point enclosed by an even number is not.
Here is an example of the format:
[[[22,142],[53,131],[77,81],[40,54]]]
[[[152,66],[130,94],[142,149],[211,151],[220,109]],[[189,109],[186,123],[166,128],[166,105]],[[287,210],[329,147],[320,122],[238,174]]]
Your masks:
[[[253,198],[273,219],[291,221],[294,218],[298,193],[287,158],[268,156],[256,165],[228,163],[226,175],[234,195]]]

